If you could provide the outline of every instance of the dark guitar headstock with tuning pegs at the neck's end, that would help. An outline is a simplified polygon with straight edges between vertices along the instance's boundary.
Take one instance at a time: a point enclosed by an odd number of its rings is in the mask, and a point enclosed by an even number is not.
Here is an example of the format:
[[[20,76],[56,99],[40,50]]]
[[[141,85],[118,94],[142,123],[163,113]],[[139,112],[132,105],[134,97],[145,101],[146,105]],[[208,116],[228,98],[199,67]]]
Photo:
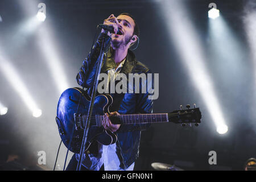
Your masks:
[[[193,109],[190,109],[190,105],[187,105],[186,107],[187,109],[183,110],[182,105],[180,105],[180,110],[175,110],[168,113],[169,121],[180,123],[182,126],[186,126],[186,123],[188,123],[190,126],[191,123],[195,123],[195,126],[199,126],[202,118],[199,107],[196,107],[195,104]]]

